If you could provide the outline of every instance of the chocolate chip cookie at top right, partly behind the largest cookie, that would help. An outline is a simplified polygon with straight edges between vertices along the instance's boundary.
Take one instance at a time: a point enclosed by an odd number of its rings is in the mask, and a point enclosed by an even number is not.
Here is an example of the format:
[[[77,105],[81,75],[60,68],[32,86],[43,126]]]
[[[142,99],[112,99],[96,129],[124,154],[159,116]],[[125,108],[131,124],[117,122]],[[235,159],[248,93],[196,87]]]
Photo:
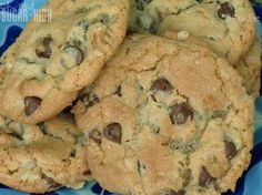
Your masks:
[[[129,31],[188,31],[234,64],[255,38],[249,0],[132,0]]]

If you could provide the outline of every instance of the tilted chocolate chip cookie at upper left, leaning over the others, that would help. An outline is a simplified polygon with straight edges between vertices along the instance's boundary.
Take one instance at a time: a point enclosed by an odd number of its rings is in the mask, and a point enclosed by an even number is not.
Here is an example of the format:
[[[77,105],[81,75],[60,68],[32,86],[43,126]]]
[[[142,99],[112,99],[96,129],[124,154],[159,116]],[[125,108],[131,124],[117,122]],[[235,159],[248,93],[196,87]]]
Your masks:
[[[50,1],[2,57],[1,114],[37,124],[70,105],[122,42],[129,7],[129,0]]]

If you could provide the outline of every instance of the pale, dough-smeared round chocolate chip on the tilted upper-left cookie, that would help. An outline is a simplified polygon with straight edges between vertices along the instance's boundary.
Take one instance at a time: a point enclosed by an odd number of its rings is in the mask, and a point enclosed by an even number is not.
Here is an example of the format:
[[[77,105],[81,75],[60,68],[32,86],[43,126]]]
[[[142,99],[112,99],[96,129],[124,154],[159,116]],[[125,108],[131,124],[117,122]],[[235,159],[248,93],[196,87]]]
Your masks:
[[[63,54],[61,58],[61,64],[70,69],[74,65],[79,65],[83,62],[83,52],[80,48],[74,45],[68,45],[63,49]]]

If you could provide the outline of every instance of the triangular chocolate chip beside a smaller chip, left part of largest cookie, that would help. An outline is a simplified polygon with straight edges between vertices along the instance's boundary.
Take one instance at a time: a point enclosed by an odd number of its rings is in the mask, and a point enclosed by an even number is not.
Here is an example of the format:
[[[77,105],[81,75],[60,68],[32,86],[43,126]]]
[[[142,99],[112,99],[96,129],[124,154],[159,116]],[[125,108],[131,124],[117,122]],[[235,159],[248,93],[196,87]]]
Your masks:
[[[118,144],[121,144],[122,140],[122,126],[119,123],[112,123],[109,124],[104,130],[103,130],[103,135]]]

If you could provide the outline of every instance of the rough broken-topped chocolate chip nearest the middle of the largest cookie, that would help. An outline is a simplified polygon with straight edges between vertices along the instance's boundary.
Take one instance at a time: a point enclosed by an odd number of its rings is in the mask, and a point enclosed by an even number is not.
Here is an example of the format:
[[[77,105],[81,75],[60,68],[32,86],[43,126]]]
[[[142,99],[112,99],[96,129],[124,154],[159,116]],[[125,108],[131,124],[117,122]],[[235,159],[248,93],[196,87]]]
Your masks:
[[[172,124],[183,124],[188,119],[193,119],[193,110],[192,107],[183,102],[172,106],[172,111],[170,113],[170,120]]]

